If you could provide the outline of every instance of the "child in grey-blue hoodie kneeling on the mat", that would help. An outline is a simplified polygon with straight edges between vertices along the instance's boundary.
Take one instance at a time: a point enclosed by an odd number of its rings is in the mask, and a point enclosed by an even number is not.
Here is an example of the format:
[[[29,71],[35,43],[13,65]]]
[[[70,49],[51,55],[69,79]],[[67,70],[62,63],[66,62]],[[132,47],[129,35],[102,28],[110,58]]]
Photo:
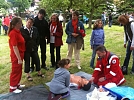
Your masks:
[[[69,95],[70,73],[67,69],[70,68],[70,60],[62,59],[58,62],[58,66],[59,68],[54,72],[49,89],[54,96],[65,97]]]

